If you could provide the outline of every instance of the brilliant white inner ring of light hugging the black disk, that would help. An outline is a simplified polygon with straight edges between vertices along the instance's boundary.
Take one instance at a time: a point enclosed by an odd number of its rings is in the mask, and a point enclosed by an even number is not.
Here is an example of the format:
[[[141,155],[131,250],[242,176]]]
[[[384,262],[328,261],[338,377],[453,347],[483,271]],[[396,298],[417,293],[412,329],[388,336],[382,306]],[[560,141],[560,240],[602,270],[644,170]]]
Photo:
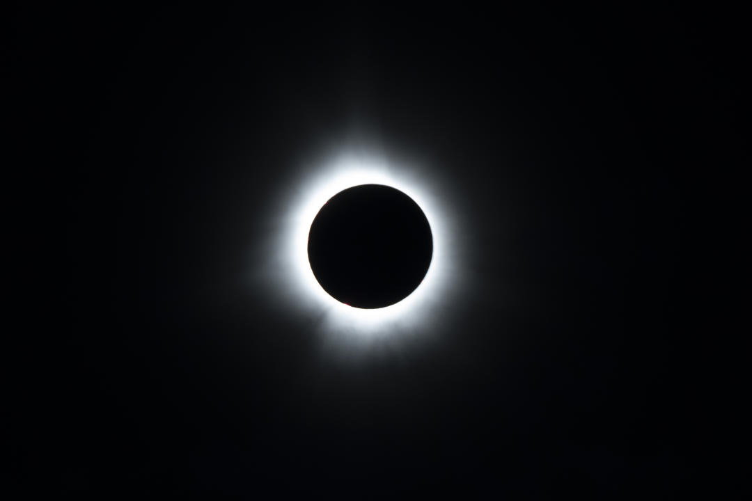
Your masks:
[[[348,306],[329,295],[319,284],[308,261],[308,234],[311,224],[326,201],[353,186],[378,184],[390,186],[408,195],[423,210],[433,239],[429,269],[420,285],[405,299],[377,309]],[[402,327],[414,329],[429,321],[435,303],[445,301],[449,282],[447,260],[447,219],[435,199],[432,183],[418,180],[409,169],[397,169],[374,155],[341,155],[314,180],[308,180],[296,200],[293,224],[287,234],[287,259],[298,277],[296,290],[308,298],[315,309],[325,312],[327,327],[350,333],[384,333]]]

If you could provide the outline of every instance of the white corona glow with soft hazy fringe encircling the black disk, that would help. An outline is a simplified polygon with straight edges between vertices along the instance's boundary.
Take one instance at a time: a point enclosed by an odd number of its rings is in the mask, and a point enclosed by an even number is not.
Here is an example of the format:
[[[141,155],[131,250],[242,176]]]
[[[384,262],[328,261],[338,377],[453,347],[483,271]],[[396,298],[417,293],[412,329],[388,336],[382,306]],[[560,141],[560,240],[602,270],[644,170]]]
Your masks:
[[[374,154],[341,154],[321,165],[308,166],[300,185],[292,187],[287,197],[284,228],[280,240],[269,249],[275,252],[277,273],[274,288],[282,291],[287,301],[307,309],[317,318],[317,327],[338,339],[384,339],[396,334],[427,331],[440,321],[456,294],[456,264],[450,245],[453,219],[438,201],[438,189],[432,179],[420,177],[417,168],[395,165]],[[431,227],[433,253],[423,282],[405,299],[378,309],[347,306],[330,296],[319,284],[308,261],[308,234],[321,207],[344,189],[364,184],[391,186],[408,195],[423,210]],[[451,287],[450,287],[451,286]]]

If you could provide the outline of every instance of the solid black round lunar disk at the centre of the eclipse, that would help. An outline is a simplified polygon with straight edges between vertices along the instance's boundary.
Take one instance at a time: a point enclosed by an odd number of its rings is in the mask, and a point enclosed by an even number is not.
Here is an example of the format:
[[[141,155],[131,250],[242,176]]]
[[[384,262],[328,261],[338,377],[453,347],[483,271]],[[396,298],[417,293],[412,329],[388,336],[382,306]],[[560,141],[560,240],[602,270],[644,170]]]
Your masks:
[[[314,276],[332,297],[356,308],[383,308],[408,297],[426,276],[432,253],[423,210],[390,186],[339,192],[308,234]]]

